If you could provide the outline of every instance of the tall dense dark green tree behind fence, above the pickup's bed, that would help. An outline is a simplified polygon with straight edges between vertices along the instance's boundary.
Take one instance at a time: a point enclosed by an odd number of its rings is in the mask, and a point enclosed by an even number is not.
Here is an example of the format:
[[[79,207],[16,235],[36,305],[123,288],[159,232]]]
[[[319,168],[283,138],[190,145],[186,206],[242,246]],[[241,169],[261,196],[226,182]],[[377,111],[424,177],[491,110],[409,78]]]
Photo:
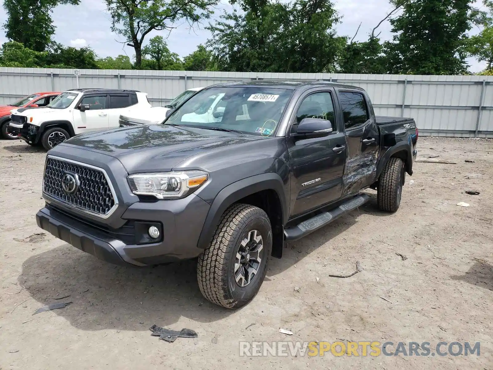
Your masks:
[[[464,74],[466,32],[473,0],[392,0],[403,12],[391,19],[393,42],[385,43],[391,73]]]

